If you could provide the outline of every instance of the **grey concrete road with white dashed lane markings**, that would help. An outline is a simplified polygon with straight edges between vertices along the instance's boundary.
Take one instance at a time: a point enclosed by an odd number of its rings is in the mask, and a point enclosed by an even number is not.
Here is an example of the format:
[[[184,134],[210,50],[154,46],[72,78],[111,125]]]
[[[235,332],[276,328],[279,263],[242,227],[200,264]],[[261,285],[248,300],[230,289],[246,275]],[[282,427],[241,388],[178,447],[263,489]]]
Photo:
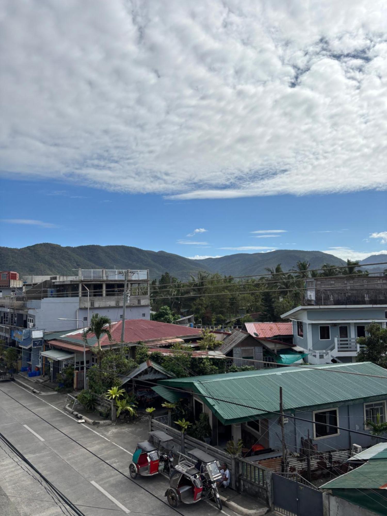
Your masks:
[[[169,507],[162,475],[128,478],[131,452],[136,442],[148,437],[144,424],[90,427],[63,411],[61,398],[44,398],[17,383],[1,382],[0,432],[86,516],[219,515],[205,501],[177,510]],[[0,514],[74,514],[2,441],[0,464]],[[236,516],[228,508],[222,513]]]

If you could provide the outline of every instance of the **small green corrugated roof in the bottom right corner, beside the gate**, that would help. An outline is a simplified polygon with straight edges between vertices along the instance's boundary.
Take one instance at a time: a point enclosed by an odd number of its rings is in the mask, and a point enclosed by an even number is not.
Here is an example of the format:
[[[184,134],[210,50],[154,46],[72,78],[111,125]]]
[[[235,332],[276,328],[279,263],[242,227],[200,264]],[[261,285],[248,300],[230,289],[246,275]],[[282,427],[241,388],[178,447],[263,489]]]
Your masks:
[[[334,478],[321,489],[386,489],[387,461],[372,459],[354,470]]]

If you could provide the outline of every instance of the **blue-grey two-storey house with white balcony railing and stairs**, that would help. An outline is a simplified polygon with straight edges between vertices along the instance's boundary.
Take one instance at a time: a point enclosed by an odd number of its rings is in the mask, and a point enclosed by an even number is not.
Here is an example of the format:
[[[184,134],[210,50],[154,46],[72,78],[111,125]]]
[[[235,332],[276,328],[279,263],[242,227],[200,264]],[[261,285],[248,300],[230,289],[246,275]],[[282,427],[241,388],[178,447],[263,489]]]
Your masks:
[[[355,362],[358,337],[367,326],[387,321],[387,304],[304,305],[281,315],[293,323],[293,343],[309,353],[310,364]]]

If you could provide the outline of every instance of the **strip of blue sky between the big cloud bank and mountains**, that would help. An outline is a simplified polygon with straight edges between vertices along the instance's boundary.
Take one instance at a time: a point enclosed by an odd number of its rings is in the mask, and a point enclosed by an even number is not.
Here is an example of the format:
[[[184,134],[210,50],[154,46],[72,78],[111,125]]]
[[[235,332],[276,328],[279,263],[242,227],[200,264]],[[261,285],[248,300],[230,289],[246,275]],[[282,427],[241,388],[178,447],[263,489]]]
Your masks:
[[[328,251],[343,258],[387,248],[382,237],[369,238],[385,229],[386,194],[381,191],[174,201],[46,181],[5,180],[2,186],[3,220],[17,221],[3,222],[2,245],[7,247],[127,245],[187,257],[278,248]],[[244,247],[267,249],[237,249]]]

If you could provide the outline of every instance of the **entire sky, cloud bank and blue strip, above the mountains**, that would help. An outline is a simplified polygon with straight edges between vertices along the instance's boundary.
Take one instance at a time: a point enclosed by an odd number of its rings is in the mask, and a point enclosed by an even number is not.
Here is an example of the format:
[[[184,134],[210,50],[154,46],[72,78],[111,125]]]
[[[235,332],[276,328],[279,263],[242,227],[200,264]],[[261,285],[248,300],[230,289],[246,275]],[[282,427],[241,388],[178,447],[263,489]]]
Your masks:
[[[384,0],[5,1],[1,245],[387,252]]]

